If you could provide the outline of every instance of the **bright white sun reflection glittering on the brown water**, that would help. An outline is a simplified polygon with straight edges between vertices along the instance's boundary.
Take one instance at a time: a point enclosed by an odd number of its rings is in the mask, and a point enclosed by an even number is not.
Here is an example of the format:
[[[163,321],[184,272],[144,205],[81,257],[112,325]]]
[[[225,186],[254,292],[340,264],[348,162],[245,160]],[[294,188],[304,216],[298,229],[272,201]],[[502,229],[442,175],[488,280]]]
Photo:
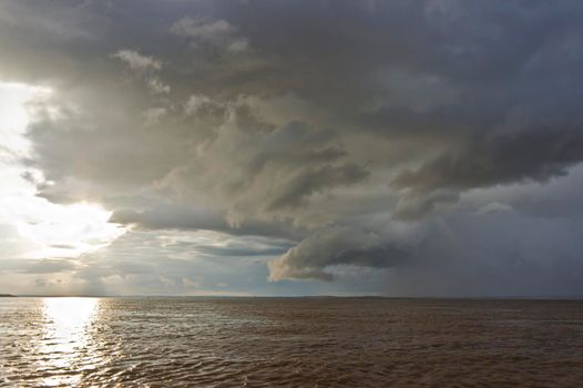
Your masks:
[[[43,357],[40,369],[60,371],[45,376],[44,386],[75,385],[82,377],[82,370],[91,367],[88,365],[91,359],[88,354],[90,327],[95,320],[99,303],[96,298],[43,300],[44,328],[39,344],[39,353]]]

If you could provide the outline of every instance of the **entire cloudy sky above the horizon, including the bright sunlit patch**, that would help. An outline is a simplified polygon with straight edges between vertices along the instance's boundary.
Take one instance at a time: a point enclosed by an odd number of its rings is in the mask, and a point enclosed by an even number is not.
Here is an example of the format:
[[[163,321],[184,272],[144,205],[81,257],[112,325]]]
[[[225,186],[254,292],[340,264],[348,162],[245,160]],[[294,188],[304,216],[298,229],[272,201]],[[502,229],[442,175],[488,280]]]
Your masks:
[[[0,2],[0,293],[583,295],[581,1]]]

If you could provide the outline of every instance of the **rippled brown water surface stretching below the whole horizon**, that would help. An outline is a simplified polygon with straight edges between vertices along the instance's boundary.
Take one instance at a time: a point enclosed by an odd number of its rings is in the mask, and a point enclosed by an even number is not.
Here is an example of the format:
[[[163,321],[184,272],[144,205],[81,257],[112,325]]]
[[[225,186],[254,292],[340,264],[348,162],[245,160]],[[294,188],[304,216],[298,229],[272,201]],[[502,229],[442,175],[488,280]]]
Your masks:
[[[2,387],[582,385],[582,302],[0,298]]]

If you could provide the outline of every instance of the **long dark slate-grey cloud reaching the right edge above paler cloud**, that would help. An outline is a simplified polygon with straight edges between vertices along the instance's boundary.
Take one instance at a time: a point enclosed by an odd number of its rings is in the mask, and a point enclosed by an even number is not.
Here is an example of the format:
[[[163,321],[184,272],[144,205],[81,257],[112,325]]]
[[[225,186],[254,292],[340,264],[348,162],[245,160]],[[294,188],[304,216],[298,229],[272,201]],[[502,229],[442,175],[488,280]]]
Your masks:
[[[579,127],[528,129],[525,133],[498,133],[477,140],[461,153],[450,152],[423,164],[417,171],[398,175],[392,184],[427,193],[448,187],[471,187],[520,182],[544,182],[565,175],[566,167],[583,157],[583,136]]]

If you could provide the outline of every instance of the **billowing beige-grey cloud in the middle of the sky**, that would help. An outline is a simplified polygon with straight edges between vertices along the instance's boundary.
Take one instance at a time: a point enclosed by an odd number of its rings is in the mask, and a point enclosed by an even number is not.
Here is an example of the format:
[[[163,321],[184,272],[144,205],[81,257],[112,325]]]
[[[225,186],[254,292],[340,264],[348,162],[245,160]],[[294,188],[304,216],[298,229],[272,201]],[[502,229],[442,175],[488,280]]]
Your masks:
[[[301,122],[269,132],[245,127],[233,111],[216,137],[201,144],[193,160],[171,172],[162,187],[178,196],[212,194],[207,203],[228,204],[233,225],[293,218],[310,196],[368,175],[364,167],[345,162],[341,144],[335,143],[335,132]]]

